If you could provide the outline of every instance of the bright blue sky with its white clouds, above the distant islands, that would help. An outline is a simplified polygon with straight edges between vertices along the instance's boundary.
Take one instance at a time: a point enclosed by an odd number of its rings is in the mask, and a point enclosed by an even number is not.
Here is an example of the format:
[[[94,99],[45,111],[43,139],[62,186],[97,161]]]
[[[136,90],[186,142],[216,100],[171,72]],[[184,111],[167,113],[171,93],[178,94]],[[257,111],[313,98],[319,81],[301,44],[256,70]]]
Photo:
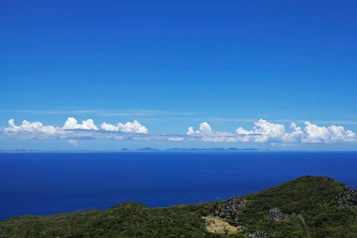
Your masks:
[[[356,150],[356,11],[2,2],[0,149]]]

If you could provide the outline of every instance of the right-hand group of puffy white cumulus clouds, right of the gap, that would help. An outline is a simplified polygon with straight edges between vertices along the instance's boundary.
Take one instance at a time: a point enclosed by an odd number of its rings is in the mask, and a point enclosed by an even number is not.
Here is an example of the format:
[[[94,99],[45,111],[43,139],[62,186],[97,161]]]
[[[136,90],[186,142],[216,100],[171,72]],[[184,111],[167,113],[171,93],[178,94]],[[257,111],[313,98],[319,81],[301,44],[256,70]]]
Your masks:
[[[236,130],[237,134],[233,134],[225,131],[214,132],[207,122],[203,122],[200,124],[200,130],[196,132],[193,131],[193,127],[189,127],[186,133],[187,136],[183,140],[205,142],[269,142],[272,146],[292,146],[294,143],[357,142],[356,134],[350,130],[345,131],[342,126],[319,127],[307,121],[303,130],[294,122],[288,128],[292,131],[286,132],[284,125],[271,123],[261,118],[257,122],[254,122],[252,130],[248,131],[243,127],[239,127]]]

